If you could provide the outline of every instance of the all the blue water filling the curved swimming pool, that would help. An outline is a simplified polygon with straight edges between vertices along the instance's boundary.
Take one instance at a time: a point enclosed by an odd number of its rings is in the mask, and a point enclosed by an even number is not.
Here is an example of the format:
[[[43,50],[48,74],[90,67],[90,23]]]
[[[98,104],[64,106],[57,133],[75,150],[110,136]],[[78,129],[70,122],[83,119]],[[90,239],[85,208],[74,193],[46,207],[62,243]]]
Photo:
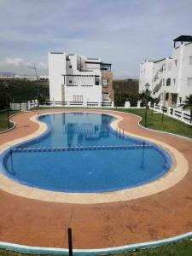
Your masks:
[[[40,120],[49,132],[3,158],[5,174],[20,183],[66,192],[114,191],[151,182],[171,166],[161,148],[148,142],[143,147],[143,141],[113,131],[109,115],[56,113]]]

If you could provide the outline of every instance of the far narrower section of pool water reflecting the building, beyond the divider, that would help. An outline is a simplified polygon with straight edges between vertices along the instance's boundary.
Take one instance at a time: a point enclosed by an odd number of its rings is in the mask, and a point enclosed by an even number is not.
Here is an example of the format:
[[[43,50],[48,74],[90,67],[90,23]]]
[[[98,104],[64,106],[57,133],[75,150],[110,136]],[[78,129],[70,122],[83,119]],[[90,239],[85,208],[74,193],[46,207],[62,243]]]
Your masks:
[[[49,125],[49,135],[22,147],[79,147],[133,143],[131,138],[124,137],[119,131],[110,128],[114,118],[106,114],[56,113],[42,116],[41,120]]]

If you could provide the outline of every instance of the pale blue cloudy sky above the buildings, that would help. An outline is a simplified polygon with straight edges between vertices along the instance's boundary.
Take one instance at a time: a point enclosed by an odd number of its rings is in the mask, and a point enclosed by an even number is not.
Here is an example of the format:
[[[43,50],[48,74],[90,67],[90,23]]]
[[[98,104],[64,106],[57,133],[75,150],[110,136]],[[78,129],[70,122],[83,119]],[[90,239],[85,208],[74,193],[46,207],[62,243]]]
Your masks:
[[[0,0],[0,71],[48,75],[48,52],[98,57],[115,79],[192,35],[192,0]]]

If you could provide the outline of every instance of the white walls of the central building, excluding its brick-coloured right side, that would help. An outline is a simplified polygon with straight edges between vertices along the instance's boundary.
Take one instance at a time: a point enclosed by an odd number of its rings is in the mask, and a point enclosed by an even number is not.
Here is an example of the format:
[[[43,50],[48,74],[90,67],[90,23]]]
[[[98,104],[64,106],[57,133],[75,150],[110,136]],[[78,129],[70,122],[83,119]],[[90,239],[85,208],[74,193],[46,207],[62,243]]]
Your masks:
[[[49,53],[49,98],[51,101],[54,97],[55,101],[73,102],[74,96],[76,99],[79,96],[78,98],[83,98],[83,102],[102,102],[100,65],[94,63],[87,66],[85,61],[92,60],[79,55]],[[101,62],[101,60],[95,62]],[[65,80],[63,75],[66,75]],[[99,85],[96,85],[95,76],[99,77]]]

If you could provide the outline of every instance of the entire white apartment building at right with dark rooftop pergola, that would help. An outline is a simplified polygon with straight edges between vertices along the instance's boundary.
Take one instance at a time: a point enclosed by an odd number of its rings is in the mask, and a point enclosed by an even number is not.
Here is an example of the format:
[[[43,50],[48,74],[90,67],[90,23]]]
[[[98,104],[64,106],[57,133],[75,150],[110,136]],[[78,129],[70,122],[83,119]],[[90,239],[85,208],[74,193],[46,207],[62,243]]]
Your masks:
[[[176,47],[177,42],[181,44]],[[174,39],[172,57],[141,64],[140,92],[145,90],[147,83],[150,85],[150,95],[166,107],[177,107],[186,96],[192,94],[192,37]]]

